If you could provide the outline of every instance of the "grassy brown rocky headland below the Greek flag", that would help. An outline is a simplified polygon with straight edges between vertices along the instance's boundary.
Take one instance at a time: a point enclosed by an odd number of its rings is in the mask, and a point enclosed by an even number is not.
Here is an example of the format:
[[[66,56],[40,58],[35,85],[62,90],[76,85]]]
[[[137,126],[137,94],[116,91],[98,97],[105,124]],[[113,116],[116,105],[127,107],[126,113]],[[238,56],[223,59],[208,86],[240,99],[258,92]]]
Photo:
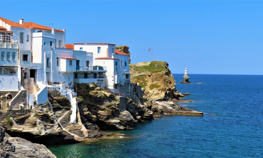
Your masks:
[[[142,86],[145,92],[144,101],[151,100],[179,100],[181,95],[175,88],[175,80],[163,61],[141,62],[130,64],[131,82]]]

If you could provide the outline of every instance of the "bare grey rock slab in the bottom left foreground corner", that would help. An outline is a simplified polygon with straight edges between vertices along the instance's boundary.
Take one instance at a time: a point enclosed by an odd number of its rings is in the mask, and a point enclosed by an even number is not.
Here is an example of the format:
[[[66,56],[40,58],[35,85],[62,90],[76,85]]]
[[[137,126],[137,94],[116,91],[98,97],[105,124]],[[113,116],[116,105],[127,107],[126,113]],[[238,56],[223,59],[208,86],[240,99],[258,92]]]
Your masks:
[[[56,158],[44,145],[34,144],[19,137],[10,137],[0,126],[0,156],[8,157],[36,157],[36,158]]]

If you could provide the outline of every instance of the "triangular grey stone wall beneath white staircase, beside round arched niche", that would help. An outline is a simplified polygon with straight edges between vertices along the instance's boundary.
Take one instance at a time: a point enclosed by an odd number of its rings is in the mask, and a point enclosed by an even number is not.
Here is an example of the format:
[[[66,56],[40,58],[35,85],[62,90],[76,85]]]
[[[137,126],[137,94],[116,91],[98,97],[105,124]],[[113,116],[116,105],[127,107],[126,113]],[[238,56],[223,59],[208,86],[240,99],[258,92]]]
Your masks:
[[[20,104],[23,104],[25,108],[28,108],[27,97],[28,90],[21,90],[18,95],[9,103],[9,110],[19,109]]]

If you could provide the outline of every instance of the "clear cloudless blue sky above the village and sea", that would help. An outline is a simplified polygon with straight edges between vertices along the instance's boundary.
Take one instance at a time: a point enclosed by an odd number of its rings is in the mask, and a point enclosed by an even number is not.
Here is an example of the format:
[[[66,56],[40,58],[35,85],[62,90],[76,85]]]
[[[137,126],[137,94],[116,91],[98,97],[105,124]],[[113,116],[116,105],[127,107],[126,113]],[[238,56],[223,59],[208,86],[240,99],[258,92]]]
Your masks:
[[[173,73],[263,75],[263,1],[10,1],[0,17],[66,29],[66,43],[128,45]],[[2,4],[7,4],[3,3]]]

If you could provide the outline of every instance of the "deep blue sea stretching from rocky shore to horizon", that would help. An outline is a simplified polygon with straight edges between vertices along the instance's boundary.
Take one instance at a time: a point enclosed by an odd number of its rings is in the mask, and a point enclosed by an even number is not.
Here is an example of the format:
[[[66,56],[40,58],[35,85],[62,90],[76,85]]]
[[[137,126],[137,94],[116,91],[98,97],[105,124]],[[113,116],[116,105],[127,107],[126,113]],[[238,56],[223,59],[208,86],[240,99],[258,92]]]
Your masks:
[[[180,84],[183,74],[174,74],[176,89],[193,101],[180,105],[203,117],[163,116],[122,131],[129,139],[48,148],[58,158],[263,157],[263,75],[189,76],[193,84]]]

